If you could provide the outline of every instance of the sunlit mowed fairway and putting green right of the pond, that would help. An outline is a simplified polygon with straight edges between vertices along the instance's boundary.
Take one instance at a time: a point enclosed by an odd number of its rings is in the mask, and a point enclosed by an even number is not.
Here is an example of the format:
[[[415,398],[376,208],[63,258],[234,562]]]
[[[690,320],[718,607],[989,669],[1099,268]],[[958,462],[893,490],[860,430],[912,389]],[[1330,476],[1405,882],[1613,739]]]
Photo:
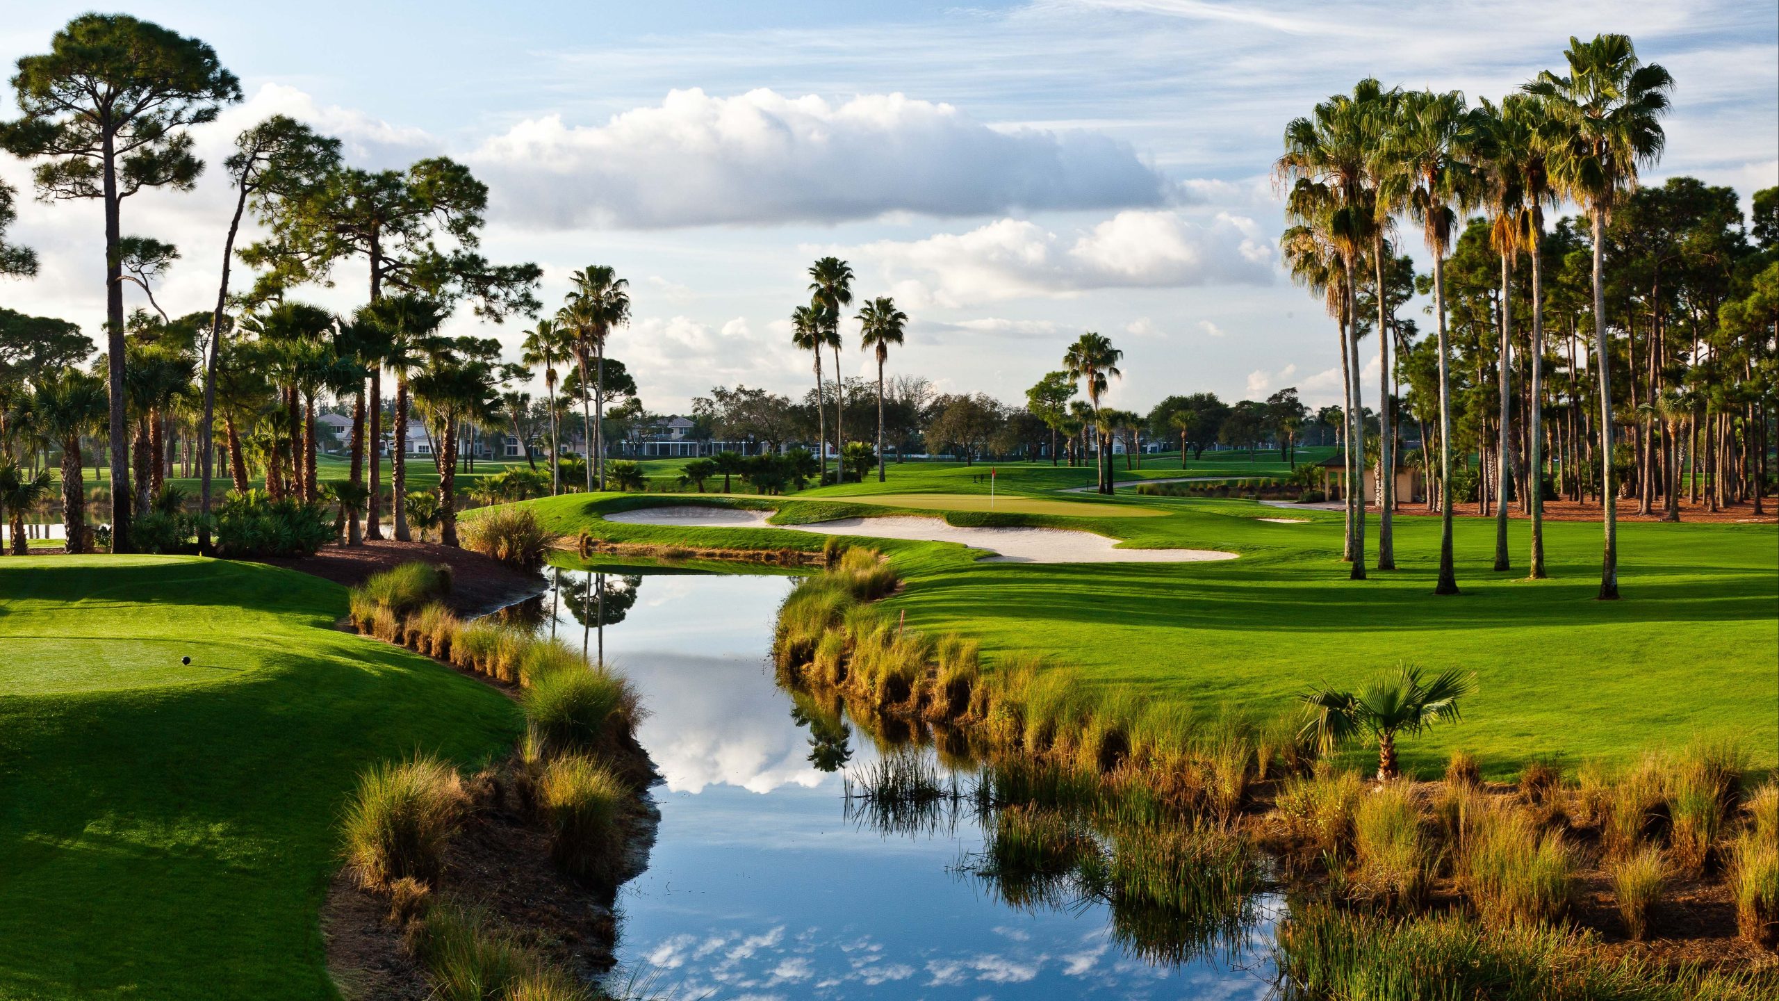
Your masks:
[[[913,467],[913,463],[909,463]],[[895,468],[895,467],[891,467]],[[913,470],[911,470],[913,472]],[[1091,474],[1091,470],[1087,470]],[[1002,467],[1012,495],[1042,495],[1048,467]],[[898,483],[900,479],[900,483]],[[920,470],[890,486],[930,493],[955,470]],[[870,504],[877,483],[772,499],[779,522],[930,513]],[[962,477],[964,490],[975,484]],[[863,490],[861,490],[863,488]],[[986,490],[986,488],[984,488]],[[1055,495],[1051,495],[1055,497]],[[1452,750],[1505,777],[1532,757],[1628,762],[1697,736],[1736,737],[1758,768],[1779,764],[1779,529],[1754,524],[1621,524],[1619,602],[1599,602],[1601,529],[1546,522],[1548,581],[1525,579],[1528,524],[1509,524],[1514,570],[1491,570],[1494,522],[1459,518],[1461,595],[1432,593],[1439,522],[1395,518],[1395,572],[1348,581],[1341,515],[1247,500],[1067,495],[1085,511],[1137,506],[1162,517],[1014,515],[954,509],[954,524],[1085,527],[1140,547],[1235,550],[1222,563],[975,563],[959,545],[861,540],[890,552],[906,588],[888,598],[907,623],[982,641],[991,670],[1037,652],[1099,691],[1272,714],[1315,684],[1356,686],[1414,663],[1475,671],[1464,720],[1405,741],[1405,762],[1443,768]],[[603,538],[813,549],[820,536],[770,529],[667,529],[600,520],[662,497],[535,500],[553,531]],[[706,502],[720,502],[706,497]],[[753,504],[767,499],[751,500]],[[1270,524],[1260,518],[1302,518]],[[1377,518],[1366,534],[1375,563]]]

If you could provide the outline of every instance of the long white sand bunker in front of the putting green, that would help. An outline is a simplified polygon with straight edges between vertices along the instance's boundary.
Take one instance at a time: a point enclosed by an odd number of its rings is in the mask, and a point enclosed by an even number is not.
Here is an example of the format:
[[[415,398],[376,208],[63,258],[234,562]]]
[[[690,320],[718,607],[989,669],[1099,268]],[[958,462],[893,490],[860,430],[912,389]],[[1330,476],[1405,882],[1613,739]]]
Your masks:
[[[994,563],[1201,563],[1208,559],[1235,559],[1233,552],[1213,549],[1117,549],[1114,540],[1067,529],[1025,527],[961,527],[941,518],[884,517],[836,518],[809,525],[769,525],[770,511],[738,511],[731,508],[637,508],[607,515],[610,522],[632,525],[672,525],[701,529],[795,529],[801,533],[906,538],[918,541],[955,541],[971,549],[986,549]]]

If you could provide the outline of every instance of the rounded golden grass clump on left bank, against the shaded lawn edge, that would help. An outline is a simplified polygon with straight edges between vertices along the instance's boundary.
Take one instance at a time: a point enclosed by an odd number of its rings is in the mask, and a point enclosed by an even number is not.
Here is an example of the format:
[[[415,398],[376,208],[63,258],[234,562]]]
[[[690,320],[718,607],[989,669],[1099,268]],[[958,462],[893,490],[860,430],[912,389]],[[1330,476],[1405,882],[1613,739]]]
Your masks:
[[[434,757],[372,766],[342,823],[347,860],[366,887],[400,878],[431,883],[463,810],[463,780]]]

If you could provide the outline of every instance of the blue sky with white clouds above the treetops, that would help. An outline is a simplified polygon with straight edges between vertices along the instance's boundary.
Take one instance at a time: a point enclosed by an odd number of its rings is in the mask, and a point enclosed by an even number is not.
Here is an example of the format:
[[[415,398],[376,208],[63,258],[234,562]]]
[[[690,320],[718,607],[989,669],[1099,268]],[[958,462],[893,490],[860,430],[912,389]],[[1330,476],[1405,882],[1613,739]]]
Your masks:
[[[0,59],[43,50],[80,9],[11,11]],[[1098,330],[1126,351],[1121,406],[1286,385],[1332,401],[1332,326],[1277,271],[1267,169],[1286,119],[1364,75],[1498,98],[1560,66],[1569,34],[1622,30],[1678,80],[1651,180],[1694,173],[1743,198],[1779,183],[1768,2],[126,9],[203,37],[240,75],[247,102],[199,135],[212,160],[274,110],[365,166],[448,153],[493,189],[489,256],[543,264],[546,301],[585,264],[630,276],[635,324],[612,351],[660,411],[715,383],[801,392],[811,376],[785,317],[822,253],[914,317],[891,370],[950,392],[1016,401]],[[0,176],[28,183],[18,162]],[[185,253],[160,297],[203,308],[222,185],[132,201],[128,232]],[[27,203],[18,237],[44,273],[0,303],[96,330],[96,207]],[[342,269],[308,297],[345,310],[359,287]],[[865,356],[845,369],[863,374]]]

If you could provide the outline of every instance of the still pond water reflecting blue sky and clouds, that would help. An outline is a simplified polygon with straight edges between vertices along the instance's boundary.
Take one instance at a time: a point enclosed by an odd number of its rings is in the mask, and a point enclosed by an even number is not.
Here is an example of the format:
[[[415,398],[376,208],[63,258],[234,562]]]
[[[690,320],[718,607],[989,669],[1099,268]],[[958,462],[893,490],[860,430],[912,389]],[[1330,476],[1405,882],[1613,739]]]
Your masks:
[[[548,574],[543,629],[603,645],[637,684],[639,737],[662,773],[648,871],[619,891],[619,980],[751,1001],[1270,992],[1265,907],[1210,955],[1158,958],[1101,901],[1007,903],[973,871],[984,832],[968,803],[886,832],[849,802],[849,775],[911,752],[777,684],[769,647],[790,579]],[[913,753],[941,768],[930,748]]]

